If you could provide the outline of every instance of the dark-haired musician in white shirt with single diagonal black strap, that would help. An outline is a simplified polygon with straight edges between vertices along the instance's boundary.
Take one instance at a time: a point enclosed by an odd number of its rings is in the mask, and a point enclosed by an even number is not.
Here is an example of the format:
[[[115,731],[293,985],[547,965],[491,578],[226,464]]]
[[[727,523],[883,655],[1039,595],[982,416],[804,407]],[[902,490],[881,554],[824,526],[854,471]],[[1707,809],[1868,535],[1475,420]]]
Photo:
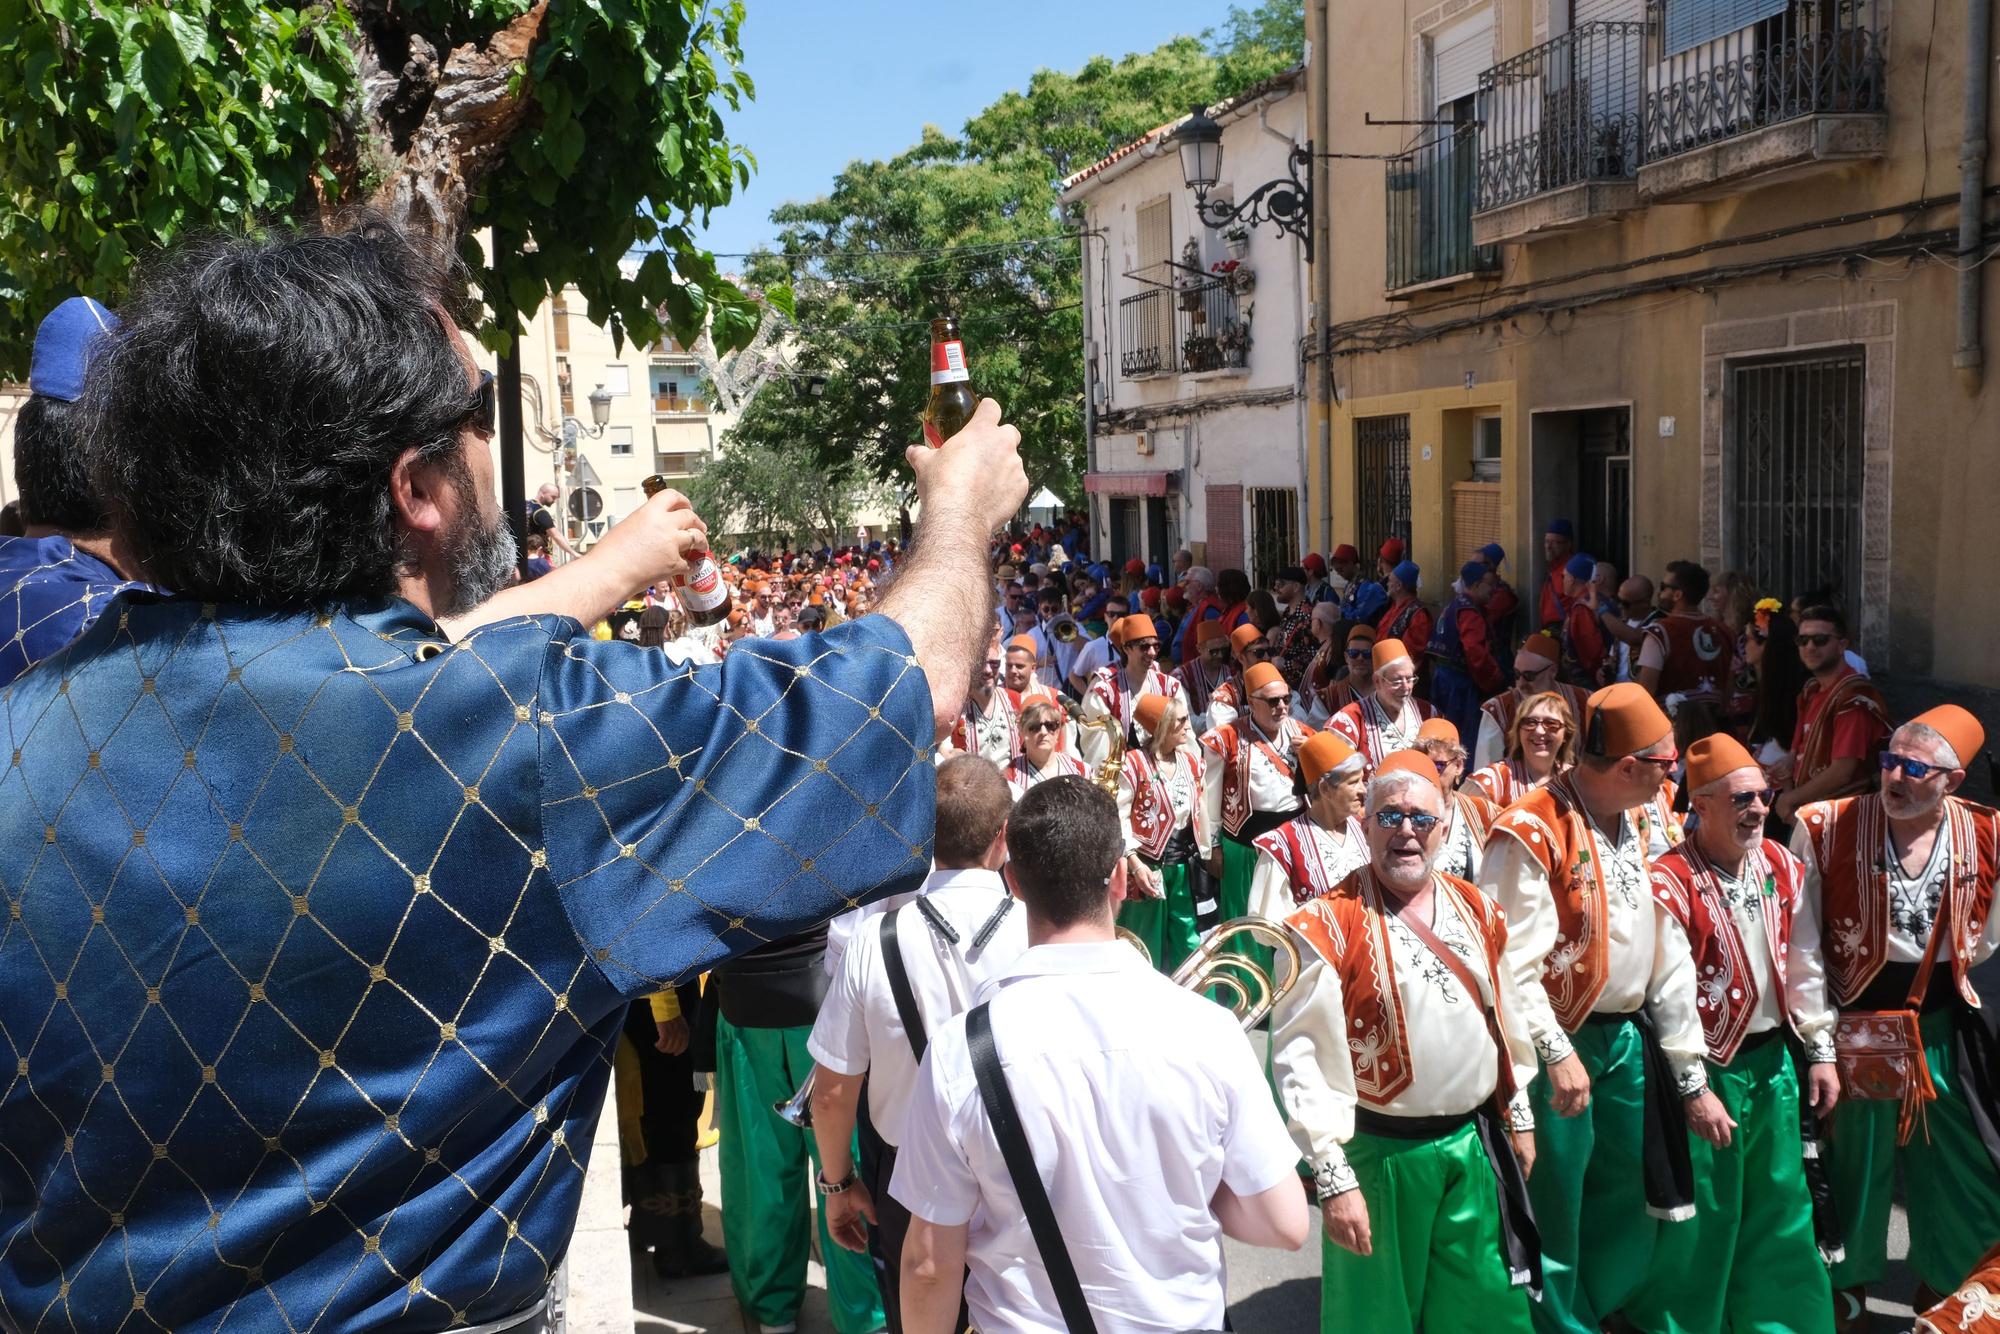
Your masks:
[[[1222,1236],[1296,1250],[1310,1228],[1292,1148],[1234,1016],[1112,934],[1118,806],[1082,778],[1008,822],[1028,952],[986,988],[1018,1120],[1102,1334],[1222,1328]],[[960,1268],[984,1334],[1064,1330],[972,1070],[966,1016],[924,1054],[890,1190],[910,1334],[952,1334]]]

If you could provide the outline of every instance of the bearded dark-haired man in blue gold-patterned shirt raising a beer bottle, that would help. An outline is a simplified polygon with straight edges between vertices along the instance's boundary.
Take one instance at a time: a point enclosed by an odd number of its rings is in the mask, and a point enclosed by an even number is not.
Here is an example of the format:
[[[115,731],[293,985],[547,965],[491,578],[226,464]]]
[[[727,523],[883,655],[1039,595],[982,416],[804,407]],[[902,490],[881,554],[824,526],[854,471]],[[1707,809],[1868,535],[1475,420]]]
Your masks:
[[[452,644],[514,564],[452,288],[380,224],[198,242],[92,364],[96,494],[180,594],[0,692],[0,1326],[540,1330],[628,1002],[928,866],[998,408],[912,450],[880,616]]]

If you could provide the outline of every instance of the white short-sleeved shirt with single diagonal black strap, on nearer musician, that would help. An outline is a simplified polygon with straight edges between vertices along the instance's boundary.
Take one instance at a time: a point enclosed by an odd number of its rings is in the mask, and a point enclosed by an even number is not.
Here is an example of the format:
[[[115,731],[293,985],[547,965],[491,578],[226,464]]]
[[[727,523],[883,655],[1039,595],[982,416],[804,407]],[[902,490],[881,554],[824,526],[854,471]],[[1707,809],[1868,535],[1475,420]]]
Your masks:
[[[1254,1196],[1298,1150],[1236,1018],[1122,940],[1044,944],[988,984],[994,1046],[1098,1330],[1222,1328],[1216,1188]],[[890,1182],[966,1224],[966,1302],[984,1334],[1048,1330],[1048,1284],[972,1074],[966,1020],[932,1034]]]

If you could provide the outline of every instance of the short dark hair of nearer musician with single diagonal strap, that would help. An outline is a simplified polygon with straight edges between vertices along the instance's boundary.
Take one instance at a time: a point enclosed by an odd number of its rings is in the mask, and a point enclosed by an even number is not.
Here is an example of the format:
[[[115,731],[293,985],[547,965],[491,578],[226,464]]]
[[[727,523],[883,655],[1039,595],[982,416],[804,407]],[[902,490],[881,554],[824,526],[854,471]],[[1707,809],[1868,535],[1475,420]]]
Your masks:
[[[1108,920],[1110,880],[1124,856],[1118,800],[1064,774],[1028,788],[1006,826],[1014,888],[1054,928]]]

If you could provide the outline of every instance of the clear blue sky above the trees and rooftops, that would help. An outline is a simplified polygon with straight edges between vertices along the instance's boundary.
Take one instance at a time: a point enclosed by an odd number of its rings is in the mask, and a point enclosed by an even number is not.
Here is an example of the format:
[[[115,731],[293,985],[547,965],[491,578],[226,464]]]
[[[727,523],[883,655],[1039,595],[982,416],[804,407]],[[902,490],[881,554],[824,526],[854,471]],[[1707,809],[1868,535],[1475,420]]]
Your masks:
[[[1040,68],[1216,28],[1228,0],[748,0],[748,14],[758,98],[728,130],[758,172],[704,232],[716,252],[768,242],[772,208],[826,194],[848,162],[896,154],[924,124],[956,132]]]

